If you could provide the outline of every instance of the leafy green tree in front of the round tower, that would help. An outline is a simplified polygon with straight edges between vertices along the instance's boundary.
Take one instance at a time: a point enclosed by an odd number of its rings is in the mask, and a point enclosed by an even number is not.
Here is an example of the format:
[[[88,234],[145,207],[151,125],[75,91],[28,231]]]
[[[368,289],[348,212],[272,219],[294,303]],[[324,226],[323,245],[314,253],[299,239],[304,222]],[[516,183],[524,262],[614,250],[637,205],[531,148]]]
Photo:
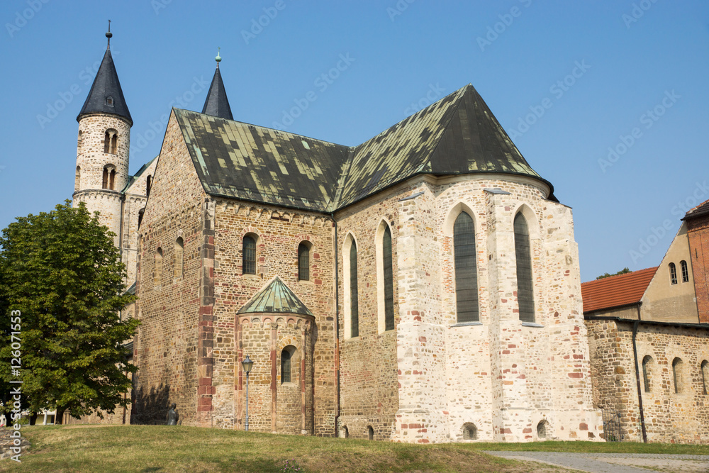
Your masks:
[[[123,393],[137,367],[123,344],[139,322],[118,318],[135,296],[125,294],[113,236],[98,213],[84,204],[72,208],[71,201],[2,230],[0,384],[18,379],[10,364],[10,319],[20,311],[22,396],[32,412],[57,409],[57,423],[67,409],[79,418],[130,402]]]

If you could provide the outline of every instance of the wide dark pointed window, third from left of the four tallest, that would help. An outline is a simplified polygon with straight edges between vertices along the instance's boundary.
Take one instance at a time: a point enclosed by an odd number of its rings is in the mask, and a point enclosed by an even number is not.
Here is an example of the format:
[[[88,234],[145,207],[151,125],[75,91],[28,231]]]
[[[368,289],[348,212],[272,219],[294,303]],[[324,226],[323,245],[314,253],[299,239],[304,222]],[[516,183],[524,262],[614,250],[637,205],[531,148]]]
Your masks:
[[[473,218],[461,212],[453,224],[457,322],[479,320],[478,271]]]

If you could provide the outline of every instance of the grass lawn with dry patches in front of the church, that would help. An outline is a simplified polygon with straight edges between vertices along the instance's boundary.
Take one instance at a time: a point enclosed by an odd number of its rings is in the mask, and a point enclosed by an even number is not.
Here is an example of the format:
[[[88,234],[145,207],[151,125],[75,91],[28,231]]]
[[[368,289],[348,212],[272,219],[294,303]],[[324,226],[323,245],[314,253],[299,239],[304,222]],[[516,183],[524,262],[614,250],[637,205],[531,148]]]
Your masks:
[[[709,455],[709,446],[540,442],[411,445],[367,440],[244,433],[164,425],[23,428],[32,447],[0,472],[279,472],[295,459],[303,472],[562,472],[480,450],[647,452]]]

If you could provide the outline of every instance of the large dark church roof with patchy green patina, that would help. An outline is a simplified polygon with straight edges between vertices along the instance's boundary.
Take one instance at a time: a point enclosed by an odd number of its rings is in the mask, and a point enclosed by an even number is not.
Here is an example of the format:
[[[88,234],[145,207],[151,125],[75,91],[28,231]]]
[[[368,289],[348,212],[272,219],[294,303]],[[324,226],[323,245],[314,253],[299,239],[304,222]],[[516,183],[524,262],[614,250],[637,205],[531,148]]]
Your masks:
[[[208,194],[333,212],[417,174],[502,173],[549,187],[471,85],[354,148],[174,109]]]

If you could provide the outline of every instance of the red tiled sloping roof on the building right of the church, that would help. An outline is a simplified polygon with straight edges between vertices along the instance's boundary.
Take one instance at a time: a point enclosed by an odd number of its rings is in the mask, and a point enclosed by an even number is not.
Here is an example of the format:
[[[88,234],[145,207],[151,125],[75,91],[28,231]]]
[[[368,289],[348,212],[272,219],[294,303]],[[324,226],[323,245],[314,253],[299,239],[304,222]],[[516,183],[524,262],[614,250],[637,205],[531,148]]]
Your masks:
[[[655,271],[657,266],[581,283],[584,313],[640,302]]]

